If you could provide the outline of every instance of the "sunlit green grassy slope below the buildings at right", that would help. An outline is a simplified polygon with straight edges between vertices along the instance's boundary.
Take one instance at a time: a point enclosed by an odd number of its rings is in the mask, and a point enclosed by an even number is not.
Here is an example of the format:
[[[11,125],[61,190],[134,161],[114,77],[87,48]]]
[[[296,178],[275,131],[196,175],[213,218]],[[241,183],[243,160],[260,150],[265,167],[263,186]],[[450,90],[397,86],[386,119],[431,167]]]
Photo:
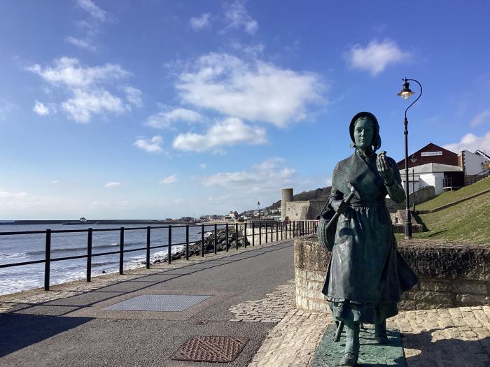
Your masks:
[[[446,192],[418,206],[427,210],[490,189],[490,178],[457,192]],[[439,238],[461,243],[490,243],[490,192],[434,213],[419,215],[428,232],[414,233],[414,238]]]

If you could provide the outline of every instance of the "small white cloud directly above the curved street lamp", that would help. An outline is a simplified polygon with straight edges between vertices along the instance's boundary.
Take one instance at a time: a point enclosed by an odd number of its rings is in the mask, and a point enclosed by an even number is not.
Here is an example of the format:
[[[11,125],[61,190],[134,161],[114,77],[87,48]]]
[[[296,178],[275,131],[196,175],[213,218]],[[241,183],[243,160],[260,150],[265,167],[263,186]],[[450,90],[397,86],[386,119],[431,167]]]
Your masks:
[[[352,69],[366,70],[377,75],[388,64],[401,62],[409,56],[409,52],[403,52],[394,41],[386,39],[383,42],[371,41],[364,48],[353,45],[347,52],[346,59]]]

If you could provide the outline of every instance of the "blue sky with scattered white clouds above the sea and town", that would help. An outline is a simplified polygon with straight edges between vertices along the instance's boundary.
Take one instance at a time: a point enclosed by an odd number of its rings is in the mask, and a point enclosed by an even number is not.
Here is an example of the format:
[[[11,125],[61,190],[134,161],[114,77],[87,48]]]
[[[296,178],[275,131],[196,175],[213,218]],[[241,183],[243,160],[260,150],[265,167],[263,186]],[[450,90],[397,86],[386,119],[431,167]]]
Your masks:
[[[487,1],[1,1],[0,219],[163,218],[330,182],[360,110],[490,150]],[[412,83],[414,92],[418,87]]]

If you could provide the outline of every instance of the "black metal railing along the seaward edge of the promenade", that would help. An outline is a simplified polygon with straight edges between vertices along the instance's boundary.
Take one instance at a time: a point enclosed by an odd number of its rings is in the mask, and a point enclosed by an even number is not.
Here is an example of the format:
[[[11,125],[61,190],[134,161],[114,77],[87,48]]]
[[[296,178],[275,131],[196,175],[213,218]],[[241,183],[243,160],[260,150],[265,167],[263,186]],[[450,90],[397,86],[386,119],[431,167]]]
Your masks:
[[[233,224],[231,224],[233,225]],[[255,246],[255,236],[258,237],[259,245],[262,244],[262,235],[265,234],[265,243],[274,242],[273,236],[275,234],[275,239],[283,240],[288,238],[295,238],[297,236],[305,236],[309,234],[316,233],[316,227],[318,225],[318,221],[300,221],[300,222],[253,222],[251,225],[251,233],[247,232],[247,224],[246,223],[235,223],[235,249],[238,250],[239,240],[244,238],[243,245],[246,247],[250,241],[248,240],[250,237],[251,245]],[[214,254],[218,251],[218,227],[220,229],[225,230],[226,244],[225,251],[228,252],[230,249],[230,224],[186,224],[186,225],[175,225],[169,224],[167,226],[141,226],[141,227],[120,227],[120,228],[104,228],[104,229],[45,229],[43,231],[13,231],[13,232],[0,232],[0,236],[18,236],[18,235],[30,235],[30,234],[45,234],[45,257],[40,260],[31,260],[31,261],[22,261],[10,264],[0,264],[0,268],[10,268],[13,266],[26,266],[32,264],[43,264],[44,263],[44,289],[48,291],[50,289],[50,265],[53,261],[65,261],[65,260],[75,260],[75,259],[87,259],[87,282],[92,281],[92,258],[99,256],[107,256],[113,254],[119,254],[119,274],[124,273],[124,254],[127,252],[135,252],[135,251],[146,251],[146,268],[150,268],[150,254],[151,250],[167,247],[167,262],[169,264],[172,263],[172,246],[185,245],[186,250],[186,260],[189,259],[189,245],[193,245],[194,243],[198,243],[201,241],[201,257],[204,257],[205,252],[205,238],[204,233],[206,227],[213,227],[214,230]],[[241,226],[241,230],[239,230],[239,226]],[[172,243],[172,229],[174,228],[186,228],[186,242],[183,243]],[[201,228],[201,240],[189,240],[189,228],[192,227],[200,227]],[[262,227],[265,228],[265,232],[262,231]],[[250,228],[250,227],[249,227]],[[275,228],[275,231],[274,231]],[[151,245],[151,230],[152,229],[167,229],[168,231],[168,243],[167,245]],[[258,232],[257,232],[258,229]],[[280,229],[280,239],[279,239],[279,229]],[[125,249],[125,233],[127,231],[144,231],[146,230],[146,246],[138,247],[132,249]],[[92,236],[94,232],[109,232],[109,231],[119,231],[119,250],[118,251],[109,251],[109,252],[97,252],[96,254],[92,253]],[[241,235],[239,232],[241,231]],[[87,233],[87,252],[83,255],[75,255],[69,257],[51,257],[51,236],[52,233]],[[284,236],[283,236],[284,235]]]

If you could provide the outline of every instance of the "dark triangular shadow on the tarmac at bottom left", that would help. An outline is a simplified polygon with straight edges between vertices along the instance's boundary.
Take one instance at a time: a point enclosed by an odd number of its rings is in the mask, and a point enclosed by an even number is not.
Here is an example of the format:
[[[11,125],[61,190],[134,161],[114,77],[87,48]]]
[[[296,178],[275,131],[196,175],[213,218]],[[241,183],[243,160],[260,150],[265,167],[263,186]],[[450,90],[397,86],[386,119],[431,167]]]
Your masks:
[[[91,317],[0,314],[0,358],[90,320]]]

